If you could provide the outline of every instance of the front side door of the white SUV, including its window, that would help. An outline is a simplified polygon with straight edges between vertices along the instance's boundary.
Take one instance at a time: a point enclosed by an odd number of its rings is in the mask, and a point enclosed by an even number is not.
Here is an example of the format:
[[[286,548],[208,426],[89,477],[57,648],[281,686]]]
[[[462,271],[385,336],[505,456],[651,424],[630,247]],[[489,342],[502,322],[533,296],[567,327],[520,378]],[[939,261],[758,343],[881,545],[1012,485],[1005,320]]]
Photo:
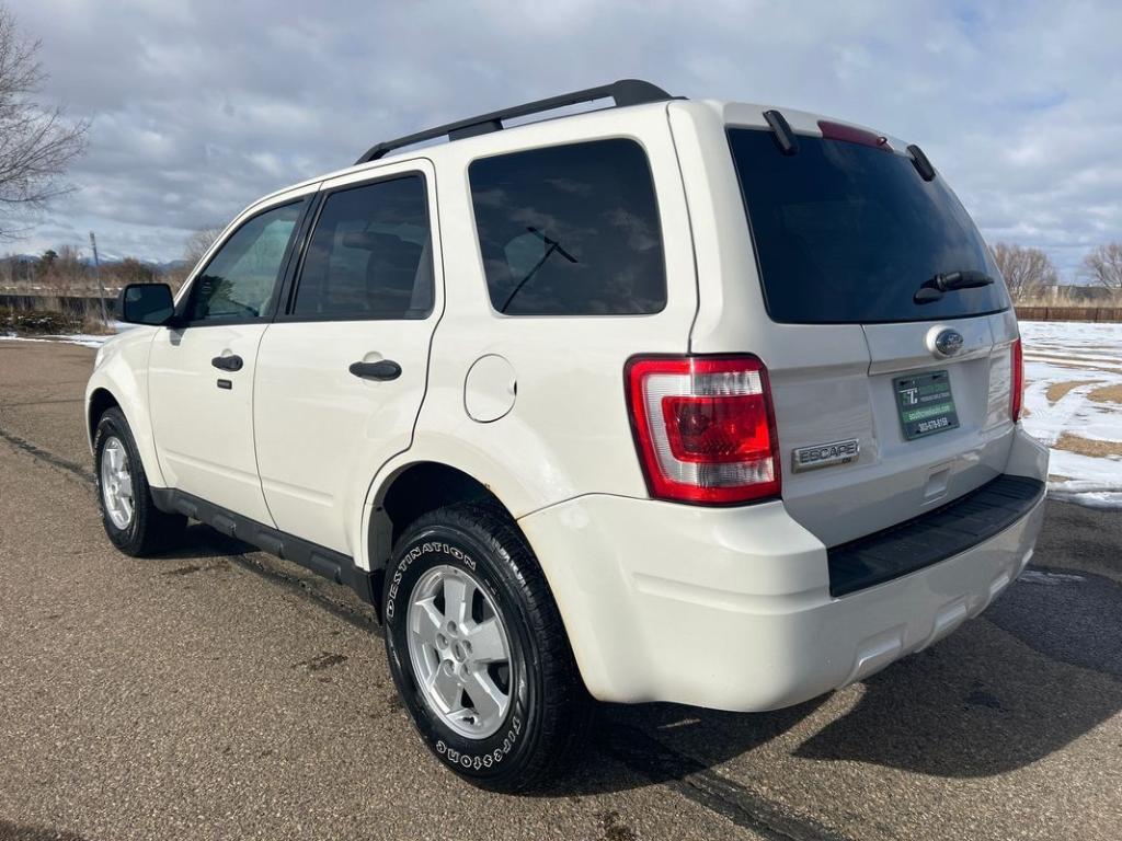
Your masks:
[[[159,331],[148,399],[176,490],[272,524],[254,458],[254,367],[307,196],[252,213],[226,238]]]

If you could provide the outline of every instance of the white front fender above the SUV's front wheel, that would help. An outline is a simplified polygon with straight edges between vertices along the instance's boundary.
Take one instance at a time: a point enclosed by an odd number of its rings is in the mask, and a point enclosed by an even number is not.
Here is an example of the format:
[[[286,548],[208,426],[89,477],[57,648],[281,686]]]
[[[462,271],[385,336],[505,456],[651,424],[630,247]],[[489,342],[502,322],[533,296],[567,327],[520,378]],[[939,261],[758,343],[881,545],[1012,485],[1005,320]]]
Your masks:
[[[108,392],[128,420],[137,452],[144,465],[148,484],[167,487],[156,456],[156,441],[151,434],[148,412],[148,354],[159,327],[132,327],[107,341],[98,351],[93,373],[85,386],[85,425],[90,451],[93,451],[95,418],[91,405],[98,392]]]

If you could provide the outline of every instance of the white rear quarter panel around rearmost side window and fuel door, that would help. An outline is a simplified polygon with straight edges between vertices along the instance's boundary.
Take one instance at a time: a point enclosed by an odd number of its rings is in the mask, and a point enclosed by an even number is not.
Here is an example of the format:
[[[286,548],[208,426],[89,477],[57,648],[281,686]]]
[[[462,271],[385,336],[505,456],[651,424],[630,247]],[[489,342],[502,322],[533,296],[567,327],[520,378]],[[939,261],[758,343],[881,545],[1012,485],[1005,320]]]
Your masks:
[[[507,316],[490,304],[468,166],[477,157],[600,138],[632,138],[652,170],[668,303],[654,315]],[[430,150],[426,150],[430,151]],[[436,167],[445,309],[432,342],[413,446],[371,488],[412,462],[435,461],[488,486],[515,517],[583,493],[646,497],[632,440],[624,366],[636,353],[684,353],[697,308],[690,222],[665,105],[610,110],[460,140]],[[489,423],[466,408],[466,378],[494,354],[513,370],[513,408]]]

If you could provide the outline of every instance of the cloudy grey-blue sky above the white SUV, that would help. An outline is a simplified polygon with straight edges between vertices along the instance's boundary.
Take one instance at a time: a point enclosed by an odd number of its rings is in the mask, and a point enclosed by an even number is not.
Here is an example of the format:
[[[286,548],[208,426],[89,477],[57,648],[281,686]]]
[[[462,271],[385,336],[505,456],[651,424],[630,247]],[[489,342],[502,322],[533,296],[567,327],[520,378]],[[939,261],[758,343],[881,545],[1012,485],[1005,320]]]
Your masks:
[[[374,141],[619,77],[921,144],[991,241],[1122,240],[1122,3],[0,0],[92,121],[34,234],[174,259]]]

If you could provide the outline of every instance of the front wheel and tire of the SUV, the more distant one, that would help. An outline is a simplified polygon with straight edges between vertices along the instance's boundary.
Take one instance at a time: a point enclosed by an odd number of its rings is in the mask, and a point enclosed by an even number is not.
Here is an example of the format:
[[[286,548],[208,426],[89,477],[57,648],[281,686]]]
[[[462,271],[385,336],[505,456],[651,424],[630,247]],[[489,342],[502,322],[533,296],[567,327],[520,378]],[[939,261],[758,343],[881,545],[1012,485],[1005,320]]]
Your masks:
[[[101,416],[93,454],[101,524],[113,545],[126,555],[144,557],[182,543],[187,518],[156,508],[136,441],[120,409],[111,408]],[[128,492],[131,505],[126,509],[121,497]]]

